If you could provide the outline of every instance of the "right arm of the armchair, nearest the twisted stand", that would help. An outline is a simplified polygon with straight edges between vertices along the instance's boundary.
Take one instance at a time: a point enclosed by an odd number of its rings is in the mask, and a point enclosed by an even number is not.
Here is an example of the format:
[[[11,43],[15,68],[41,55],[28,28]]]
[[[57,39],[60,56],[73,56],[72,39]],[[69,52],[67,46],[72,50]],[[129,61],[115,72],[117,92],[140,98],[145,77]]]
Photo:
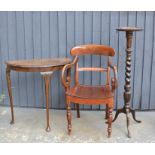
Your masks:
[[[111,78],[112,89],[116,89],[118,87],[117,67],[113,66],[111,62],[108,63],[108,66],[113,70],[114,74],[114,77]]]

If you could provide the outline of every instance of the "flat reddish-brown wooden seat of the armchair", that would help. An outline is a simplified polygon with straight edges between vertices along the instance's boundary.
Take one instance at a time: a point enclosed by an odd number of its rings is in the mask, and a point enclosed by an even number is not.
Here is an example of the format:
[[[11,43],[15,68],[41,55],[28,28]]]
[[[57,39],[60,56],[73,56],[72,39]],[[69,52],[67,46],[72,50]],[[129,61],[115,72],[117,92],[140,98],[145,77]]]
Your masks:
[[[114,97],[110,86],[78,85],[72,87],[66,94],[83,99],[105,99]]]

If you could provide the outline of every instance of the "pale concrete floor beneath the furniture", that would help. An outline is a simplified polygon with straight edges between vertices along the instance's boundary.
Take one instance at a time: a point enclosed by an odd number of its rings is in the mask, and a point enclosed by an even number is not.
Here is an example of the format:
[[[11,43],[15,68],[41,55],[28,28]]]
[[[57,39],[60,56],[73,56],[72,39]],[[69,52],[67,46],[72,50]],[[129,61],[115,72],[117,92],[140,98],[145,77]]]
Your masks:
[[[132,138],[127,138],[125,115],[113,123],[112,137],[107,138],[103,111],[72,111],[72,134],[66,130],[66,111],[50,110],[51,132],[45,131],[45,110],[15,108],[15,124],[10,125],[10,108],[0,107],[0,142],[155,142],[155,111],[137,112],[143,122],[131,119]]]

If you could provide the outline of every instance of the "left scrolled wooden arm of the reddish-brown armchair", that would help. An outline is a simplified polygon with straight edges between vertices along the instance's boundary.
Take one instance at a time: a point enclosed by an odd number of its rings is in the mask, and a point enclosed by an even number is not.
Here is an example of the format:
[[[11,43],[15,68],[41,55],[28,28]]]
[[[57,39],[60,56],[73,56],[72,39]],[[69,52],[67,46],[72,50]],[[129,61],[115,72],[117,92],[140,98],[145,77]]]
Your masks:
[[[73,61],[67,65],[65,65],[61,72],[61,82],[62,85],[66,88],[70,86],[70,69],[77,63],[78,56],[75,56]],[[65,73],[67,72],[67,75],[65,76]]]

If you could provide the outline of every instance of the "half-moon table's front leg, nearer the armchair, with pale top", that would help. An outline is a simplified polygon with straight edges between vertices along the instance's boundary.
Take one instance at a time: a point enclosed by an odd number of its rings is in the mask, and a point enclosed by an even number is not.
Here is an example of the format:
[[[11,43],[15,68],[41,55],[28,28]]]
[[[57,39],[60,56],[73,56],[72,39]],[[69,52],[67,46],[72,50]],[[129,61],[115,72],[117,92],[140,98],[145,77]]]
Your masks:
[[[49,123],[49,85],[50,85],[50,73],[41,73],[44,78],[45,82],[45,98],[46,98],[46,121],[47,121],[47,126],[46,126],[46,131],[50,132],[51,127]]]

